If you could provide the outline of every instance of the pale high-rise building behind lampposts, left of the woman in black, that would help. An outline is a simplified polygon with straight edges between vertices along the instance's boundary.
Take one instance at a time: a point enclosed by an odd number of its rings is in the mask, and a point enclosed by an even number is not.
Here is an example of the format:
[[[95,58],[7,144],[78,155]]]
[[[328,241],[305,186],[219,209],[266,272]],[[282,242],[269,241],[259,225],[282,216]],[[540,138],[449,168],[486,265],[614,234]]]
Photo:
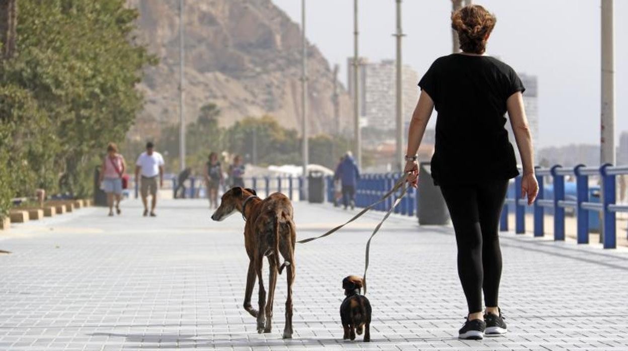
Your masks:
[[[353,96],[353,58],[349,64],[349,94]],[[360,59],[360,116],[369,127],[382,131],[396,128],[396,64],[394,60],[368,62]],[[419,97],[418,74],[404,65],[401,72],[403,119],[408,121]],[[405,125],[405,124],[404,124]]]

